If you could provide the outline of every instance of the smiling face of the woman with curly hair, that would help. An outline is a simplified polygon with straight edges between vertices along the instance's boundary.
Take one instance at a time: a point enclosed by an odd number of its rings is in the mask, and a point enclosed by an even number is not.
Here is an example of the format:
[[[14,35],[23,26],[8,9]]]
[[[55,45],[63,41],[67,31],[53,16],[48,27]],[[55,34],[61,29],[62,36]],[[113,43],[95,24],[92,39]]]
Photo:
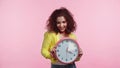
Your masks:
[[[57,17],[57,28],[61,33],[64,33],[67,27],[67,21],[64,16]]]

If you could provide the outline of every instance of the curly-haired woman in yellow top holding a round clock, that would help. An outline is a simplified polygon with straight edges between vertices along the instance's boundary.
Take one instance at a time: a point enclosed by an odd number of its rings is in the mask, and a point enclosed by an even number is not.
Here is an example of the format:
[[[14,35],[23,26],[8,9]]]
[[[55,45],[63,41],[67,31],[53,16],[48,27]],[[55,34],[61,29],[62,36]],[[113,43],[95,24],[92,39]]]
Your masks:
[[[48,19],[47,29],[48,31],[44,34],[41,54],[46,59],[51,60],[51,68],[76,68],[74,62],[71,64],[63,64],[54,56],[54,47],[60,39],[69,37],[76,40],[76,36],[73,33],[76,30],[76,22],[70,11],[64,7],[54,10]],[[81,49],[79,53],[76,61],[78,61],[83,54]]]

